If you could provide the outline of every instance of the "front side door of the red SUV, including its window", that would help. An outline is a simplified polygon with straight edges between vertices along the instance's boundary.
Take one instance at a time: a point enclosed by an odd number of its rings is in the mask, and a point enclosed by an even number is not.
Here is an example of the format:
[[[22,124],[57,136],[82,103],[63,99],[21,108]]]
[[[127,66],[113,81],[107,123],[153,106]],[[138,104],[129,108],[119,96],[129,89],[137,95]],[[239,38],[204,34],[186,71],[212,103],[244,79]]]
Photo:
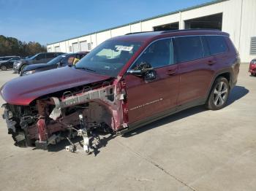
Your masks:
[[[173,62],[171,39],[160,39],[152,43],[132,64],[136,69],[141,63],[148,63],[155,71],[155,78],[147,80],[143,76],[127,74],[127,103],[129,124],[141,120],[151,120],[157,114],[176,109],[179,77],[178,66]]]

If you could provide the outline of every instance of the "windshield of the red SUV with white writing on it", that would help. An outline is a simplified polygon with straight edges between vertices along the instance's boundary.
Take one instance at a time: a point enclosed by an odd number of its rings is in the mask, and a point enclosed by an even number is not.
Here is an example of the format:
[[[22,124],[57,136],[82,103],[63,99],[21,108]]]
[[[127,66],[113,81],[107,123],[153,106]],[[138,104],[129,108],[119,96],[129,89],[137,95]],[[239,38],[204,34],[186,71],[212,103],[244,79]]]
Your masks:
[[[82,58],[75,68],[117,77],[119,71],[138,51],[141,44],[142,42],[105,41]]]

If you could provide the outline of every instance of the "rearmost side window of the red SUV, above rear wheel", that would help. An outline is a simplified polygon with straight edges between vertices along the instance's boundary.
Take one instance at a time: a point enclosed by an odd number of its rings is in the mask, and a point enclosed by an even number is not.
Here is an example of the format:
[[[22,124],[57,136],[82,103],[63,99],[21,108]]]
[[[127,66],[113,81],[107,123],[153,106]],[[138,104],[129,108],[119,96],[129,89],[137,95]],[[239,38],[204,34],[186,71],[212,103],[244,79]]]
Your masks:
[[[223,36],[206,36],[211,55],[227,52],[227,44]]]

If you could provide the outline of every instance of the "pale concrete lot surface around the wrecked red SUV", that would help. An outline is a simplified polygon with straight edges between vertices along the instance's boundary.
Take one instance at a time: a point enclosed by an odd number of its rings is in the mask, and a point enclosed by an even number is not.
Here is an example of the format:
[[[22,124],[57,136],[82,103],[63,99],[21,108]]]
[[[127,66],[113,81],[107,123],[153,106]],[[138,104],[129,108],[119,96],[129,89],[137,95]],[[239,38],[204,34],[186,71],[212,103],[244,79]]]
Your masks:
[[[50,152],[15,147],[1,119],[0,190],[256,190],[256,77],[247,69],[225,109],[198,106],[110,137],[96,157],[66,152],[66,142]],[[13,77],[0,71],[0,85]]]

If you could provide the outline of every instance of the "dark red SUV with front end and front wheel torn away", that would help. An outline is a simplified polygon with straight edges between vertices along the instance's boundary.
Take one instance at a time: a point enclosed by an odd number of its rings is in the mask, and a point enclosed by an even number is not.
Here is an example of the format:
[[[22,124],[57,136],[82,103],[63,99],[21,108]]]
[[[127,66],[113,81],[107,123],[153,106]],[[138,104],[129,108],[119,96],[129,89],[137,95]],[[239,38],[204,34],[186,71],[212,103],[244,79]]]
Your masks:
[[[90,152],[98,131],[126,133],[205,104],[222,109],[236,85],[240,58],[229,35],[214,30],[117,36],[76,66],[12,79],[1,87],[15,145],[48,149],[83,137]],[[74,151],[74,144],[67,147]]]

